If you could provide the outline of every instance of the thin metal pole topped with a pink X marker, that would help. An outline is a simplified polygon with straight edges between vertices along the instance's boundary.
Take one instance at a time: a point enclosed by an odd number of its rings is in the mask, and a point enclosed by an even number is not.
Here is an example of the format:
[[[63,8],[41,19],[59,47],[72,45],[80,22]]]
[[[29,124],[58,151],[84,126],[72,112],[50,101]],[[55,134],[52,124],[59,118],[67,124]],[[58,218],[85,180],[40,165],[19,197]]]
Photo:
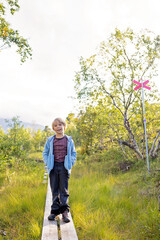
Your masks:
[[[142,88],[142,101],[143,101],[143,117],[144,117],[144,130],[145,130],[145,139],[146,139],[146,155],[147,155],[147,167],[148,167],[148,173],[149,173],[149,157],[148,157],[148,143],[147,143],[147,128],[146,128],[146,115],[145,115],[145,105],[144,105],[144,88],[151,90],[151,87],[146,86],[147,83],[149,83],[149,80],[143,82],[141,78],[141,82],[137,82],[136,80],[133,80],[134,83],[136,83],[138,86],[134,88],[134,90],[138,90],[139,88]]]

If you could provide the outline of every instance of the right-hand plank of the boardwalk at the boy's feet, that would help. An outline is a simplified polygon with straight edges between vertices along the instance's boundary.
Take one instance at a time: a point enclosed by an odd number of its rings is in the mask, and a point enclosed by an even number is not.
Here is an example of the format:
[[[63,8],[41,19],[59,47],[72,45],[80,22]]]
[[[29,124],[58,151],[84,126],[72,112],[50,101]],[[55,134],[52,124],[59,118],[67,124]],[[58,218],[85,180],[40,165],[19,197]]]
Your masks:
[[[70,219],[69,223],[64,223],[61,218],[61,222],[60,222],[61,239],[62,240],[78,240],[73,219],[70,213],[69,213],[69,219]]]

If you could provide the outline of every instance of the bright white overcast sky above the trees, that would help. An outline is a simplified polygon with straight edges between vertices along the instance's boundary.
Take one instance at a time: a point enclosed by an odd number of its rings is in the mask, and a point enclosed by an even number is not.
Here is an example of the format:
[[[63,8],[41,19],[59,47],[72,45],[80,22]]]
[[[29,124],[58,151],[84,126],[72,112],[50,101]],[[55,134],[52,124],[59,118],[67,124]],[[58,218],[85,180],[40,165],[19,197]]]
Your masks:
[[[28,39],[33,56],[21,65],[15,47],[0,52],[0,118],[19,116],[21,121],[51,126],[54,118],[76,112],[73,79],[81,56],[91,56],[116,27],[160,34],[159,0],[19,4],[19,12],[7,20]]]

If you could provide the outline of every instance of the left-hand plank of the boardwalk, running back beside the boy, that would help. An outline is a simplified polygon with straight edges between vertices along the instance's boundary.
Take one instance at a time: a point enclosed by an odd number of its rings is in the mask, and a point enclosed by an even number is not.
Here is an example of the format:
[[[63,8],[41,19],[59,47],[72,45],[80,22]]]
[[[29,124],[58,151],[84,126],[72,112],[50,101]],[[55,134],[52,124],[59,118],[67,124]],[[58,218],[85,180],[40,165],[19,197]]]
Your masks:
[[[48,180],[47,197],[46,197],[41,240],[51,240],[51,239],[57,240],[58,239],[57,221],[48,220],[48,215],[50,214],[51,202],[52,202],[52,194],[51,194],[49,180]]]

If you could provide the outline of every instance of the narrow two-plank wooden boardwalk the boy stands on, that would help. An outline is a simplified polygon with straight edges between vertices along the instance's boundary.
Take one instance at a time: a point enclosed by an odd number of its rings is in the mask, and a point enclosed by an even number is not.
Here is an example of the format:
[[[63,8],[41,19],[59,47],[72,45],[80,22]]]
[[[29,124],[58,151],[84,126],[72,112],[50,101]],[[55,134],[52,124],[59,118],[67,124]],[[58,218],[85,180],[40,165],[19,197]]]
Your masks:
[[[69,213],[70,222],[64,223],[61,215],[55,221],[48,221],[52,201],[51,189],[48,181],[46,205],[43,220],[41,240],[78,240],[77,233],[73,224],[72,216]]]

